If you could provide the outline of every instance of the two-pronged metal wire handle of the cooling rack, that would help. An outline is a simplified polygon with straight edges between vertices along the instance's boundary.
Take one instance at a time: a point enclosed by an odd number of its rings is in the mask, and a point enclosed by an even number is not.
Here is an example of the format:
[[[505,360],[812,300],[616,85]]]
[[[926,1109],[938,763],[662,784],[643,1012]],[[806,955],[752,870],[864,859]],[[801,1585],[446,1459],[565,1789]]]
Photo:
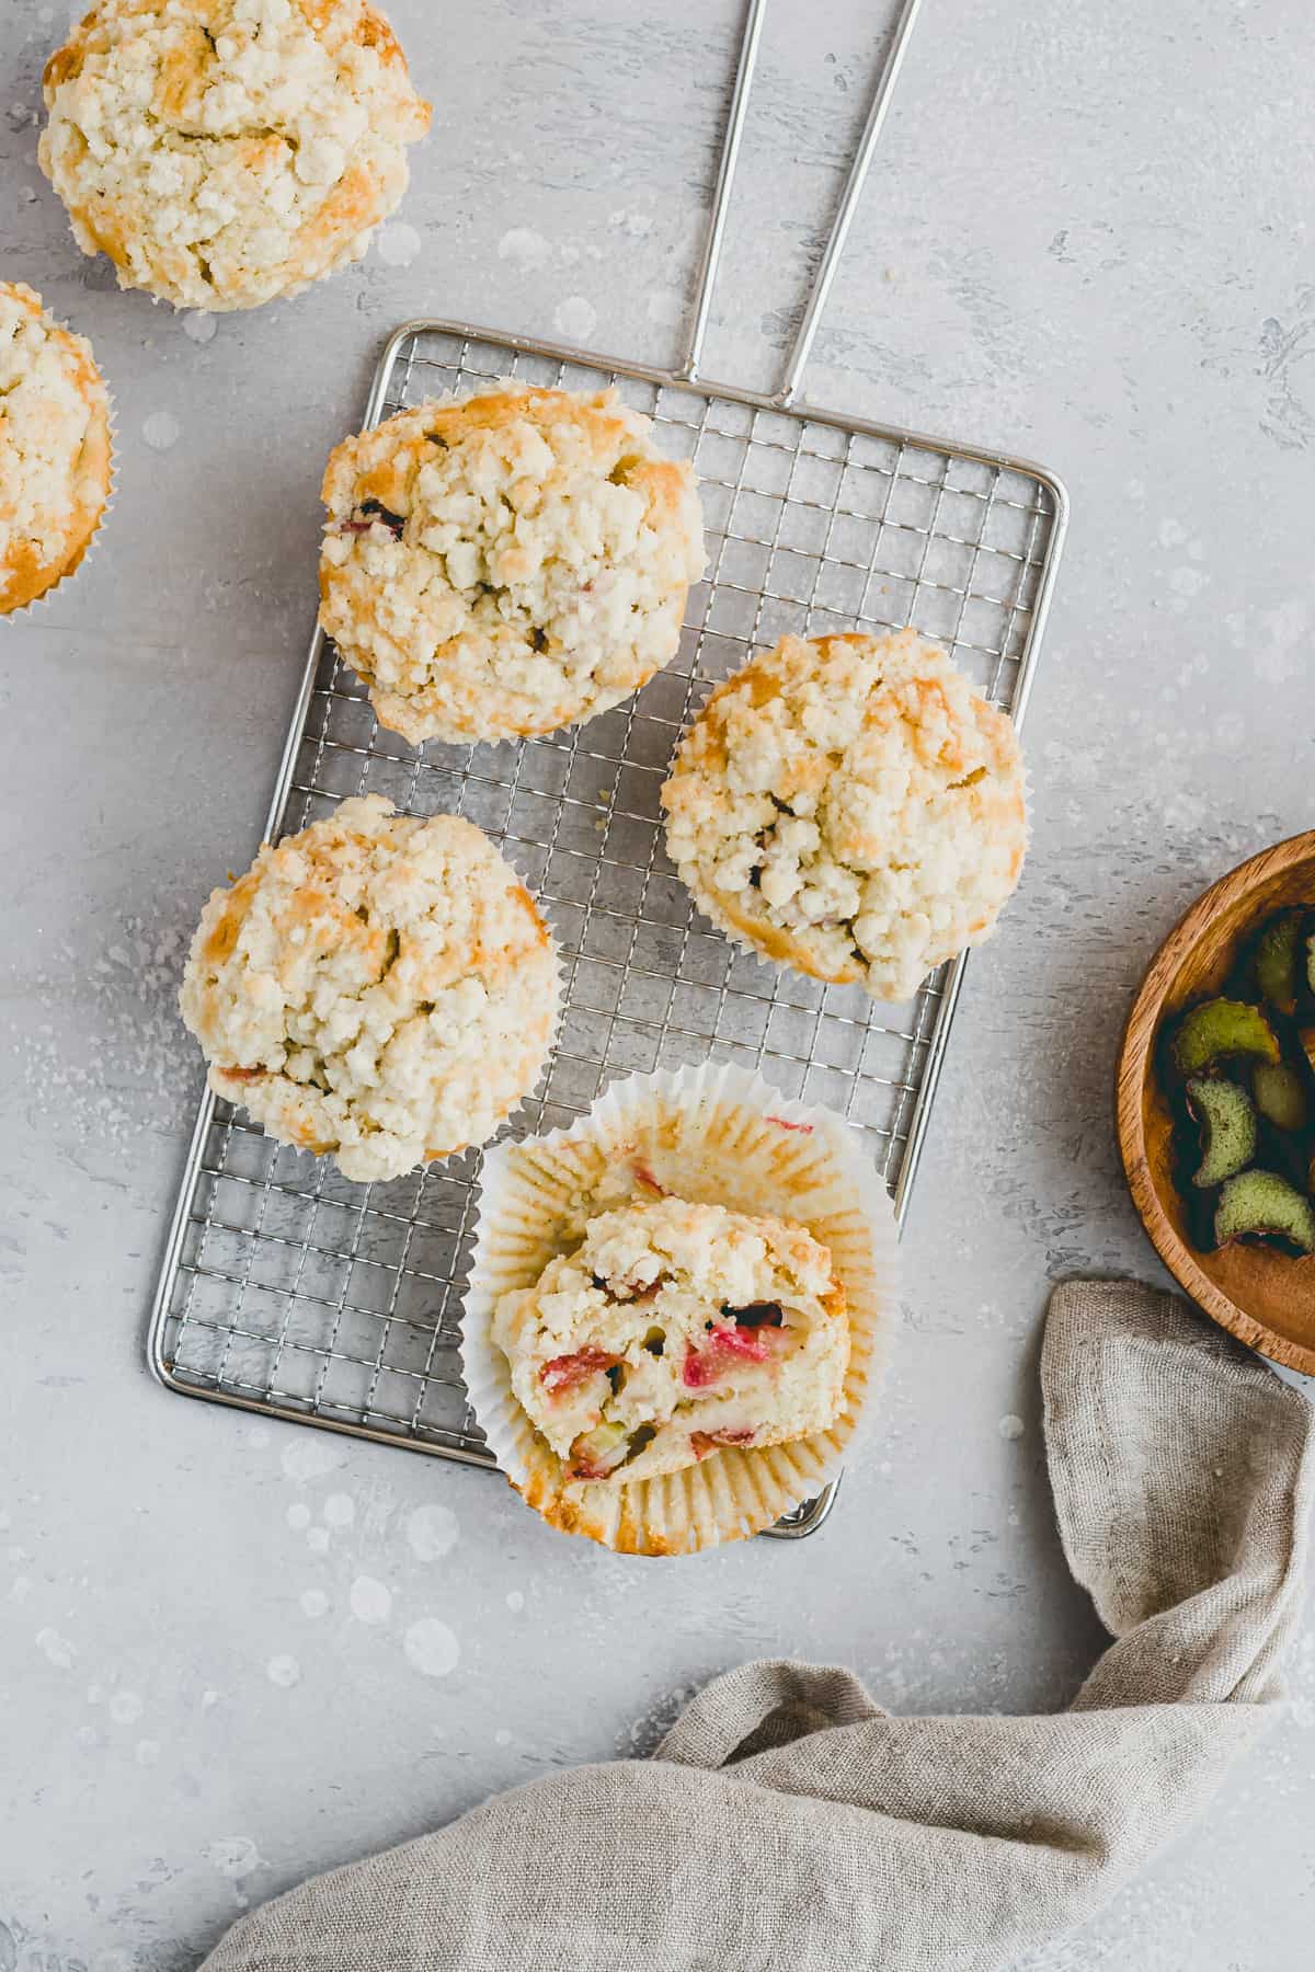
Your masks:
[[[763,39],[763,22],[767,20],[769,0],[749,0],[749,10],[745,14],[743,39],[739,43],[739,63],[735,67],[735,95],[731,99],[731,114],[726,126],[726,140],[722,144],[722,164],[718,168],[718,185],[712,197],[712,217],[708,221],[708,237],[704,241],[704,256],[698,270],[698,302],[694,308],[694,325],[690,327],[690,337],[684,351],[684,365],[680,375],[690,383],[698,377],[698,369],[704,355],[704,337],[708,333],[708,319],[712,316],[712,298],[718,286],[718,268],[722,262],[722,246],[726,241],[726,219],[731,203],[731,187],[735,183],[735,166],[739,164],[739,140],[743,136],[743,126],[749,116],[749,95],[753,91],[753,71],[757,67],[757,51]],[[871,166],[877,138],[881,136],[881,124],[885,122],[885,112],[891,106],[891,97],[895,95],[895,83],[899,81],[899,71],[903,69],[905,53],[913,37],[913,28],[921,12],[923,0],[905,0],[899,20],[895,24],[895,37],[891,39],[889,55],[885,57],[885,67],[877,81],[875,95],[871,99],[871,108],[867,110],[867,122],[864,124],[864,134],[860,138],[858,150],[854,152],[854,162],[850,166],[850,176],[846,177],[844,193],[840,195],[840,205],[836,207],[836,217],[826,241],[826,250],[822,254],[812,290],[808,294],[808,306],[804,308],[802,321],[798,323],[798,333],[795,335],[795,345],[789,353],[785,373],[781,377],[781,387],[773,392],[777,404],[793,404],[802,383],[804,367],[812,351],[812,339],[818,333],[818,323],[822,321],[822,310],[826,308],[826,298],[830,294],[832,282],[836,278],[836,268],[840,266],[840,256],[844,252],[846,239],[850,235],[850,225],[854,223],[854,213],[858,211],[858,201],[864,195],[864,181]]]

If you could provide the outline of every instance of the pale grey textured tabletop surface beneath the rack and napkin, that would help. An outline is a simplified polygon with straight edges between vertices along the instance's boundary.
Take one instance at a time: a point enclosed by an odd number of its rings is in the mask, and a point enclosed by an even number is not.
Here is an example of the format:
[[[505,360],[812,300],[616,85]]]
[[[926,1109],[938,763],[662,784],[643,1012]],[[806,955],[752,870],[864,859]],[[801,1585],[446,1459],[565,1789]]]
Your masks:
[[[436,132],[355,270],[209,323],[118,294],[35,166],[65,8],[0,22],[0,274],[95,339],[118,505],[0,639],[0,1968],[193,1964],[248,1905],[751,1653],[895,1708],[1061,1704],[1100,1649],[1051,1524],[1051,1278],[1153,1276],[1110,1071],[1153,945],[1307,826],[1315,65],[1301,0],[929,0],[810,392],[1067,475],[1035,846],[974,964],[905,1238],[885,1444],[798,1548],[674,1568],[503,1487],[162,1394],[144,1315],[199,1089],[173,1012],[252,852],[313,615],[317,481],[394,321],[670,359],[735,0],[394,0]],[[781,0],[712,369],[773,377],[885,10]],[[1021,1438],[1000,1424],[1017,1414]],[[382,1584],[388,1595],[353,1585]],[[444,1678],[408,1625],[459,1647]],[[1299,1972],[1315,1637],[1207,1822],[1029,1972]]]

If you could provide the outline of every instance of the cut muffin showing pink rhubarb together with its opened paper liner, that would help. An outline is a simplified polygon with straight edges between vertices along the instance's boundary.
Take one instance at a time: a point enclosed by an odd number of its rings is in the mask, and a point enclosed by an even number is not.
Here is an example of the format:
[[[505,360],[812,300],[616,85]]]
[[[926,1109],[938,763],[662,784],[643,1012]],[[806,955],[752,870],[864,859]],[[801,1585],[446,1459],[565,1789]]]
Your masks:
[[[856,1455],[895,1307],[858,1134],[731,1063],[660,1069],[485,1154],[461,1376],[550,1526],[694,1554]]]

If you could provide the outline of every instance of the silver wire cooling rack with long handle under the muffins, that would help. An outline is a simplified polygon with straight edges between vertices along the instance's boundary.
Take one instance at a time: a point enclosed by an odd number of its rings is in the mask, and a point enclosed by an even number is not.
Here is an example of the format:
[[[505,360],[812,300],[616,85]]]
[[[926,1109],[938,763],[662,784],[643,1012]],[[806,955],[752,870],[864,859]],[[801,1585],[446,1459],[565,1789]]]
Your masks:
[[[915,625],[1021,722],[1067,519],[1035,465],[796,404],[820,308],[917,14],[895,32],[832,237],[775,396],[700,379],[765,0],[747,14],[735,99],[680,371],[451,321],[386,343],[365,422],[519,377],[613,383],[658,442],[692,456],[710,576],[678,657],[635,700],[520,745],[410,747],[315,631],[268,836],[347,795],[465,814],[538,895],[568,980],[562,1031],[515,1128],[572,1122],[613,1075],[739,1061],[864,1132],[903,1221],[966,954],[905,1008],[733,951],[662,852],[658,787],[710,686],[785,631]],[[491,1465],[457,1371],[479,1154],[386,1185],[270,1142],[205,1096],[150,1321],[156,1376],[185,1396]],[[828,1487],[773,1532],[822,1524]]]

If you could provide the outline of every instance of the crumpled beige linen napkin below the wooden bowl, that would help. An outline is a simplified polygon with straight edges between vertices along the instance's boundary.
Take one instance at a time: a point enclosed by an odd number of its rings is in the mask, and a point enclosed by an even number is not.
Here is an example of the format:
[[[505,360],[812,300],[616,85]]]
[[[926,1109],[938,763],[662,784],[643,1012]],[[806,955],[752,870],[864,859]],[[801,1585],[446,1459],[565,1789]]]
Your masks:
[[[990,1972],[1080,1923],[1274,1720],[1315,1455],[1297,1390],[1145,1288],[1059,1288],[1041,1382],[1116,1639],[1069,1712],[889,1718],[846,1670],[745,1664],[655,1759],[317,1877],[205,1972]]]

